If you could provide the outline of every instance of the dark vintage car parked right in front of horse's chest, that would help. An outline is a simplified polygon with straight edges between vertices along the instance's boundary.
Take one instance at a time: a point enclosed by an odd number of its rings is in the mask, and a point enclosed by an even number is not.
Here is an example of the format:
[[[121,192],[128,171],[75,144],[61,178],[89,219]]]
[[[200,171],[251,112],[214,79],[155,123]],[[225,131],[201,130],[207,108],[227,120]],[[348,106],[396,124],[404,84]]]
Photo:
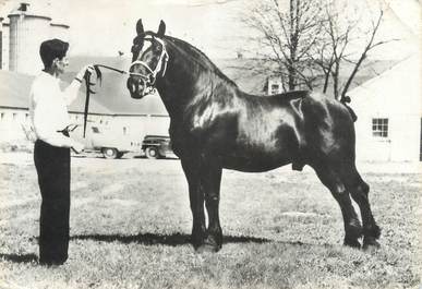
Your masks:
[[[141,148],[147,158],[176,157],[171,149],[170,137],[166,135],[145,135]]]

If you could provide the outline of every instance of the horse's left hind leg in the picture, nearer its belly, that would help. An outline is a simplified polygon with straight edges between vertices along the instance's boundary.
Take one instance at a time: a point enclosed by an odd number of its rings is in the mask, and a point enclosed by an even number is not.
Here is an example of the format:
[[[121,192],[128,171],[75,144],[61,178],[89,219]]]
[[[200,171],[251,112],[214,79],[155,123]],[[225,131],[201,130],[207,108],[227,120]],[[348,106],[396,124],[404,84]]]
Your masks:
[[[362,237],[362,227],[358,215],[351,204],[349,192],[341,181],[338,172],[327,167],[314,167],[316,174],[325,186],[331,192],[341,208],[345,221],[345,245],[360,248],[359,238]]]

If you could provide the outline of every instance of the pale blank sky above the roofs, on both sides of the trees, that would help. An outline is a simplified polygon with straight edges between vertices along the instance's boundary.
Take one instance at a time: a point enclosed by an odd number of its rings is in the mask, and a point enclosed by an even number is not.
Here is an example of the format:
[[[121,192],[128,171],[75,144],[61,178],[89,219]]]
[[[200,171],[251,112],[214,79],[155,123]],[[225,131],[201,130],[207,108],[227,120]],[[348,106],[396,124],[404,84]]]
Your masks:
[[[33,8],[46,8],[52,19],[71,26],[71,53],[116,56],[129,55],[135,36],[135,23],[143,19],[145,29],[156,31],[160,20],[167,24],[167,34],[198,47],[213,58],[233,58],[245,44],[243,36],[253,32],[240,21],[240,12],[248,11],[251,2],[260,0],[26,0]],[[387,38],[408,40],[419,28],[420,11],[413,9],[417,0],[355,0],[383,2],[390,5],[388,21],[381,32]],[[0,0],[0,16],[16,7],[19,0]],[[49,3],[49,4],[48,4]],[[398,29],[397,27],[400,26]],[[417,28],[415,28],[417,27]],[[401,41],[389,45],[379,57],[397,58],[409,46]]]

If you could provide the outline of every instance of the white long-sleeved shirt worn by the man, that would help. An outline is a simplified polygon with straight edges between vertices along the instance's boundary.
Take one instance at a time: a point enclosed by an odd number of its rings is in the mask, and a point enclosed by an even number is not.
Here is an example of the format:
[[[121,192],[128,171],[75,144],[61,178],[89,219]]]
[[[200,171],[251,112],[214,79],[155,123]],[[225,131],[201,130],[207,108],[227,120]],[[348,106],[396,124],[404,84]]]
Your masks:
[[[68,106],[77,97],[81,83],[73,81],[64,91],[60,80],[46,72],[35,77],[29,94],[29,113],[35,134],[50,145],[72,147],[74,141],[61,132],[70,124]]]

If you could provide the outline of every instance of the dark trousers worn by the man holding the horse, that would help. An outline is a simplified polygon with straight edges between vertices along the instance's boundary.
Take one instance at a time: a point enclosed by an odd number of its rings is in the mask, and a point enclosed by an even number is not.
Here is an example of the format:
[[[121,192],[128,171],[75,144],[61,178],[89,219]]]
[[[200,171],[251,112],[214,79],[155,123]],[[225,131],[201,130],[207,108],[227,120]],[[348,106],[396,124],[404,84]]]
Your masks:
[[[41,192],[39,262],[62,264],[68,260],[70,210],[70,148],[35,142],[34,162]]]

